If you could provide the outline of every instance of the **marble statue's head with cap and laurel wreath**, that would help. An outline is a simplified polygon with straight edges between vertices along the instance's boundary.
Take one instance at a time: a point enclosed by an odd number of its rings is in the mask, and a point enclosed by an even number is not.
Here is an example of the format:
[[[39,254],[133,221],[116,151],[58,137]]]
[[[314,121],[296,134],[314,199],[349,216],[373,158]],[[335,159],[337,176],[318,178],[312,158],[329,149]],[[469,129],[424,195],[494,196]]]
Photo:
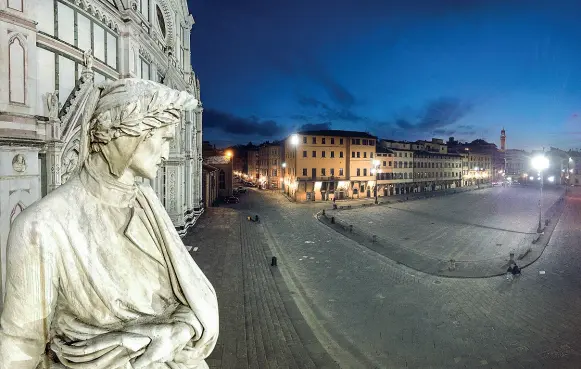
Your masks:
[[[142,80],[120,79],[99,87],[88,122],[89,154],[102,155],[115,177],[125,171],[153,179],[169,156],[182,111],[198,101],[185,91]]]

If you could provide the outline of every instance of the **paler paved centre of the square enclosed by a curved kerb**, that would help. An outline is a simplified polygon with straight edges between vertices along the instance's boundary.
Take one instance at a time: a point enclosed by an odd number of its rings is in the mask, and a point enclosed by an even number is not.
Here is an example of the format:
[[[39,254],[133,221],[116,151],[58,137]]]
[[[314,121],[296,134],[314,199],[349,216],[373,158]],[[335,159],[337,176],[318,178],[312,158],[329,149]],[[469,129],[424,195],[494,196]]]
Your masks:
[[[543,209],[563,194],[549,188]],[[508,259],[530,247],[538,224],[538,189],[493,187],[392,205],[327,211],[344,224],[428,259]]]

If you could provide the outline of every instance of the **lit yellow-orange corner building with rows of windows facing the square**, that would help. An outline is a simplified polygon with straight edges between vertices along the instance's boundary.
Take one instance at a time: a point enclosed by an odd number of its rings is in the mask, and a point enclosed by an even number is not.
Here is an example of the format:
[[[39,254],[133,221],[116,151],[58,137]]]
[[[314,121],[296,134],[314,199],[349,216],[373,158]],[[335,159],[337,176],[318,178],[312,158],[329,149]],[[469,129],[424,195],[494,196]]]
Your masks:
[[[368,196],[377,138],[365,132],[303,131],[284,141],[284,190],[297,201]]]

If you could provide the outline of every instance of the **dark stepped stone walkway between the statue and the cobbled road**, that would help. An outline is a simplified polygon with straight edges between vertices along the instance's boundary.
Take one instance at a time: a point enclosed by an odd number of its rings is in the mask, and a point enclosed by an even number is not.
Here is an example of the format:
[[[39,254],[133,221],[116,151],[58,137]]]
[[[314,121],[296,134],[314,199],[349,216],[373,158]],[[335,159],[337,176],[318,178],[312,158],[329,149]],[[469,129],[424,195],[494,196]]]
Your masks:
[[[292,298],[281,296],[284,282],[270,266],[260,229],[240,211],[209,208],[184,237],[218,295],[220,336],[207,359],[209,367],[338,368],[300,324]]]

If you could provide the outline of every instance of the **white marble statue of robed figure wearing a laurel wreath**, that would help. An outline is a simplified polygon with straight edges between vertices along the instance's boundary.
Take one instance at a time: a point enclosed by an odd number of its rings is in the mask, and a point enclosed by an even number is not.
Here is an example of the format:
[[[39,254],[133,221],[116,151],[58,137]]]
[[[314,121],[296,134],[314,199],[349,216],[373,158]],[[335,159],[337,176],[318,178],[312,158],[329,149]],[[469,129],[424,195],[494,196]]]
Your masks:
[[[122,79],[87,105],[79,170],[10,229],[0,368],[208,368],[216,293],[155,192],[135,181],[156,176],[197,100]]]

